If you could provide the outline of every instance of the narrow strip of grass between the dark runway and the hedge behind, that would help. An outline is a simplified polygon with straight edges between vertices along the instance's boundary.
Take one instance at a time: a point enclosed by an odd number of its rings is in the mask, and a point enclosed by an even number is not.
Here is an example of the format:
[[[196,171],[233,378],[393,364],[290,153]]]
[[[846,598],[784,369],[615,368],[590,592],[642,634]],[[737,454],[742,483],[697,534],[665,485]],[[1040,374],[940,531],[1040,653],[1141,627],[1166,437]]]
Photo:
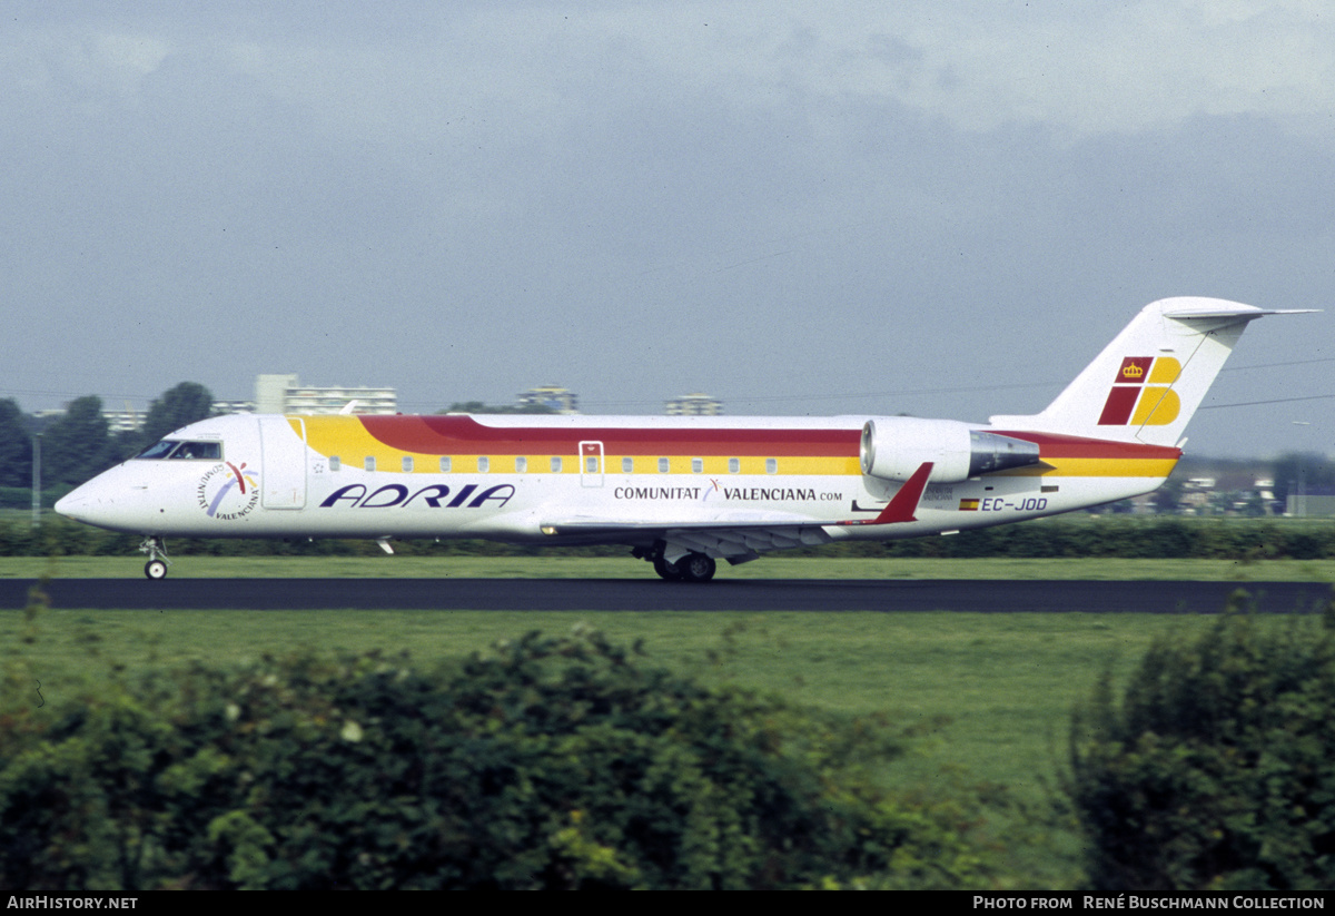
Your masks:
[[[142,557],[0,557],[0,577],[140,578]],[[175,561],[174,578],[654,578],[627,557],[196,557]],[[1188,580],[1335,582],[1335,559],[977,559],[766,557],[720,563],[718,578],[858,580]]]

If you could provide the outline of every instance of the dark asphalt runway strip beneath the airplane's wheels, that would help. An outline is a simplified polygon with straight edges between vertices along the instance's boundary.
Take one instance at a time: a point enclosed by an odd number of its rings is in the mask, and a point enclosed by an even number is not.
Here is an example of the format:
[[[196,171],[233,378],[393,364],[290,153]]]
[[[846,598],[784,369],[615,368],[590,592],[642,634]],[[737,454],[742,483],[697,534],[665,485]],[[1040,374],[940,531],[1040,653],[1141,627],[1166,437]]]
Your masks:
[[[35,580],[0,581],[21,609]],[[1244,588],[1263,613],[1319,610],[1322,582],[1105,582],[1015,580],[255,578],[55,580],[52,608],[125,610],[696,610],[1210,614]]]

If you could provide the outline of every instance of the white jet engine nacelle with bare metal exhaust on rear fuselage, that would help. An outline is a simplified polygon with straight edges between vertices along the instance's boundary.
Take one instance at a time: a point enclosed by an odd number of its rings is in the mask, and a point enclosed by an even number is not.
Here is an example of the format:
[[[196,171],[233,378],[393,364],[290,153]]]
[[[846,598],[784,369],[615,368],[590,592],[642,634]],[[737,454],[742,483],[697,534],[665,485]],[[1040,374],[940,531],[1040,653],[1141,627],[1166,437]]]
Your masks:
[[[1009,435],[971,430],[953,419],[880,417],[862,426],[862,473],[906,481],[932,462],[933,483],[959,483],[979,474],[1039,463],[1039,446]]]

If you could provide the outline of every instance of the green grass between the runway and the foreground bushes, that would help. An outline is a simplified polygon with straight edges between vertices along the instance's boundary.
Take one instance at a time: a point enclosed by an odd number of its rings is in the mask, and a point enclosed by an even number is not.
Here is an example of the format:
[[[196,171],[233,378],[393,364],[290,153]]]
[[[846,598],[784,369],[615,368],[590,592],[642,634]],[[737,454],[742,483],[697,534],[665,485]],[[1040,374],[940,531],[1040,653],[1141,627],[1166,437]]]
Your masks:
[[[423,664],[486,650],[529,630],[583,622],[649,660],[712,684],[741,684],[846,713],[913,722],[948,717],[936,762],[1029,785],[1051,769],[1071,705],[1103,666],[1129,665],[1153,634],[1203,618],[1159,614],[677,612],[0,612],[0,665],[21,653],[55,697],[107,665],[143,670],[264,653],[409,652]],[[35,630],[32,641],[25,641]]]

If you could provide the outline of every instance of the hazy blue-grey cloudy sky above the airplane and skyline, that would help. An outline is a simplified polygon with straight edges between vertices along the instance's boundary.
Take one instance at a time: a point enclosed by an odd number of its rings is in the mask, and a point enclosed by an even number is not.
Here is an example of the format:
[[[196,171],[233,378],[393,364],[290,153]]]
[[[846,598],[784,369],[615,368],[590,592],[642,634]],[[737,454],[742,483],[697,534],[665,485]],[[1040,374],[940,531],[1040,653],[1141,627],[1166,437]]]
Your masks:
[[[1331,304],[1326,3],[219,7],[5,4],[0,397],[981,421],[1153,299]],[[1207,405],[1335,395],[1332,320]],[[1189,450],[1331,451],[1332,405]]]

